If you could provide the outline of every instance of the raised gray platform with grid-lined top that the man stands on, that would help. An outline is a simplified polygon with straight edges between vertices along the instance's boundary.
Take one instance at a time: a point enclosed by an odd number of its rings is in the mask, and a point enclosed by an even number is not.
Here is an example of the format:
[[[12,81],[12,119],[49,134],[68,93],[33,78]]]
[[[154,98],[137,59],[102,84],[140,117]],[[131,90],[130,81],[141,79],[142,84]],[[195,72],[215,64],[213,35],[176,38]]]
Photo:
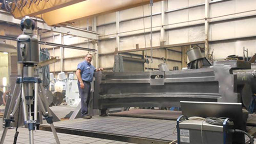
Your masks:
[[[54,123],[60,133],[132,143],[169,144],[176,140],[176,121],[122,116],[93,116],[92,119],[74,119]],[[49,124],[40,130],[51,131]]]

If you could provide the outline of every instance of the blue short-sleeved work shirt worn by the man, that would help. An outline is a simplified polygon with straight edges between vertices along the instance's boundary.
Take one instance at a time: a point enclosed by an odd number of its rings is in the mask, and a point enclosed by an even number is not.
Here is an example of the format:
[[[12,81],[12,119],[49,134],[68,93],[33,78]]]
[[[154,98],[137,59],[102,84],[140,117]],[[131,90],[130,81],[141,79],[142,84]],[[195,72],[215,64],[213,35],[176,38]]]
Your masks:
[[[77,69],[81,70],[81,77],[83,81],[92,82],[93,73],[94,73],[94,70],[96,69],[95,67],[93,67],[92,64],[84,60],[83,62],[77,65]]]

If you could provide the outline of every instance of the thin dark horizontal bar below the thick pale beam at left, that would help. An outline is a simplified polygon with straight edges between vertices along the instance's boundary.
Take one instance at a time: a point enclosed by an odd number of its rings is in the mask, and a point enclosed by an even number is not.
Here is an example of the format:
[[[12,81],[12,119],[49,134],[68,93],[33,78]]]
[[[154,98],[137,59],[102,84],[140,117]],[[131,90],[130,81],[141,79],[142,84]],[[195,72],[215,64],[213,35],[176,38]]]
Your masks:
[[[7,40],[16,41],[16,37],[13,37],[13,36],[2,36],[2,35],[0,35],[0,39],[7,39]],[[56,43],[43,42],[43,41],[39,41],[38,43],[39,43],[39,44],[43,44],[43,45],[51,45],[51,46],[65,47],[65,48],[77,49],[77,50],[85,50],[85,51],[92,51],[92,52],[95,52],[95,51],[96,51],[96,50],[90,49],[90,48],[84,48],[84,47],[78,47],[78,46],[71,46],[71,45],[65,45],[65,44],[56,44]]]

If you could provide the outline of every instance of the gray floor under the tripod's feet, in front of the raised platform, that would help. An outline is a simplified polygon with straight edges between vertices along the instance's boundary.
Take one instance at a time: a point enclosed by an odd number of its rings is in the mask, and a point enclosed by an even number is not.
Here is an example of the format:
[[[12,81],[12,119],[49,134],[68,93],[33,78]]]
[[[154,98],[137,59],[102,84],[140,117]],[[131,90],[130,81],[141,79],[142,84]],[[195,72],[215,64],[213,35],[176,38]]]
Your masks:
[[[18,131],[20,133],[18,136],[17,144],[28,144],[29,143],[28,129],[19,128]],[[2,135],[2,132],[3,131],[0,131],[0,136]],[[6,134],[4,144],[12,144],[14,134],[15,134],[15,129],[9,129]],[[98,139],[98,138],[77,136],[77,135],[64,134],[64,133],[57,133],[57,134],[60,140],[60,144],[132,144],[132,143],[127,143],[122,141]],[[54,144],[56,142],[52,132],[36,130],[36,132],[34,132],[34,143],[35,144]]]

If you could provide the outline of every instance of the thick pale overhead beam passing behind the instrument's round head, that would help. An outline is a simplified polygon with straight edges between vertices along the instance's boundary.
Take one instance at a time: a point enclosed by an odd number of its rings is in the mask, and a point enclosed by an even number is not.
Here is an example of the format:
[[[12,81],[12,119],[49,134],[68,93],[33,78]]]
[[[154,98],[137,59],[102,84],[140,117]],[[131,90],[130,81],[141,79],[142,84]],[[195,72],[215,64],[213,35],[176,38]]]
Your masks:
[[[0,18],[1,18],[1,21],[6,21],[9,23],[14,23],[14,24],[20,24],[20,20],[15,19],[8,12],[0,11]],[[97,32],[84,30],[81,28],[74,28],[71,26],[65,26],[65,27],[48,26],[41,19],[36,19],[36,18],[32,18],[32,19],[37,22],[37,27],[40,29],[50,30],[53,32],[58,32],[58,33],[62,33],[62,34],[72,35],[72,36],[79,36],[79,37],[89,38],[89,39],[98,39],[99,38],[99,33],[97,33]]]

